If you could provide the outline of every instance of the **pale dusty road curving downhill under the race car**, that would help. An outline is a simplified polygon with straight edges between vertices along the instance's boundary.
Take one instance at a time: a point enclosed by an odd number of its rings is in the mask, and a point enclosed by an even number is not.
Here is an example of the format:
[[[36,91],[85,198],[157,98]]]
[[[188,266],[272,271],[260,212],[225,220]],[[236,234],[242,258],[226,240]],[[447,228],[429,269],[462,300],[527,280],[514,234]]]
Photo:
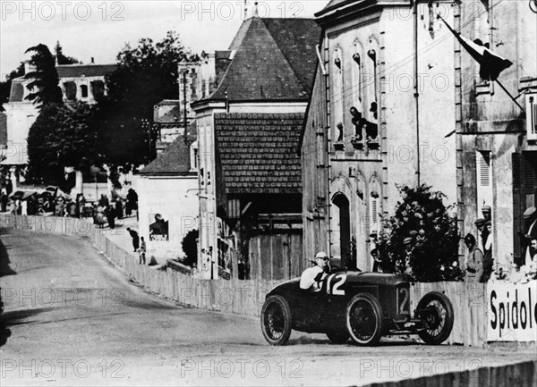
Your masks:
[[[146,293],[88,240],[0,235],[7,385],[359,385],[534,358],[520,351],[332,345],[294,332],[272,348],[257,319],[177,307]]]

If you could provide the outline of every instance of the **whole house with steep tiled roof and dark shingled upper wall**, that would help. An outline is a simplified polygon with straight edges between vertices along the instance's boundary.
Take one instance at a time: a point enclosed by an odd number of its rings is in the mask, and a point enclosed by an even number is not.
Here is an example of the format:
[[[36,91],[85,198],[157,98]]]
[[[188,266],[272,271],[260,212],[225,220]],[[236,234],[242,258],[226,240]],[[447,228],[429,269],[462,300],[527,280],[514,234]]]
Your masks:
[[[305,265],[294,149],[319,38],[310,19],[243,21],[228,50],[218,54],[214,92],[192,104],[199,128],[203,278],[224,270],[233,278],[284,279]],[[290,245],[293,251],[284,251]]]

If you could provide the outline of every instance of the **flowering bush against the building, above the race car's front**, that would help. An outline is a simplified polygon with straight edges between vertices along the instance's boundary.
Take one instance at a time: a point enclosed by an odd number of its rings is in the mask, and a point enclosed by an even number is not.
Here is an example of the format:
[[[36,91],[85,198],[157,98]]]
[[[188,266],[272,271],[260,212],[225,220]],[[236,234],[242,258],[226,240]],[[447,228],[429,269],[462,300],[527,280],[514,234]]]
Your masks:
[[[403,200],[384,222],[377,244],[382,271],[416,282],[460,281],[459,235],[456,217],[449,214],[452,208],[444,206],[446,196],[425,185],[398,189]],[[412,239],[409,251],[406,238]]]

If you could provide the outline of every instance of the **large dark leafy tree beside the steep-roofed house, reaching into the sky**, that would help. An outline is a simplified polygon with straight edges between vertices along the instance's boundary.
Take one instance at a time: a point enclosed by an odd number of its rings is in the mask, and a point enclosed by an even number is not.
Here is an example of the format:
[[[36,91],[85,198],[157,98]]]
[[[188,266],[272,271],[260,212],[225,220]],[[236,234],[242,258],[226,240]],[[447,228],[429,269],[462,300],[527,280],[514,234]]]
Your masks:
[[[154,43],[142,38],[117,55],[115,72],[107,75],[107,97],[98,102],[102,128],[102,153],[113,164],[146,164],[149,161],[149,126],[153,106],[178,98],[177,63],[199,60],[170,31]]]

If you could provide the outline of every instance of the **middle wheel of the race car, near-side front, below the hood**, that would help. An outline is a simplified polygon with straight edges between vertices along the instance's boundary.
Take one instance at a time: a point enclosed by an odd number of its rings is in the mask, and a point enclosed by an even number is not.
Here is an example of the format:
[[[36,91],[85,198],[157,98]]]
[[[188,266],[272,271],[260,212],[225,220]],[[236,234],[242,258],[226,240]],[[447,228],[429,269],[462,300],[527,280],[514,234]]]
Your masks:
[[[369,293],[356,294],[347,304],[345,324],[358,345],[377,345],[382,337],[384,315],[379,300]]]

